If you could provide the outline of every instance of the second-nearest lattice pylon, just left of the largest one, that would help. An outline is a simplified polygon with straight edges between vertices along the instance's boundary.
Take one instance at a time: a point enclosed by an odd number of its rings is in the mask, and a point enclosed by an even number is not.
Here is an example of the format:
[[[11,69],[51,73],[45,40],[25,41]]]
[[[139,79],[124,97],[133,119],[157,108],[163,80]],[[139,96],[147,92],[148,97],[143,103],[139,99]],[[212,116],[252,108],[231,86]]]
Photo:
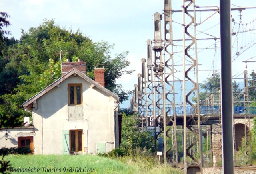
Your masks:
[[[170,50],[169,50],[170,49]],[[164,0],[164,86],[165,86],[165,107],[166,122],[164,122],[165,139],[172,141],[172,145],[166,149],[166,157],[173,166],[178,166],[176,109],[175,109],[175,88],[174,88],[174,53],[172,33],[172,4],[171,0]],[[173,111],[173,115],[171,114]],[[168,126],[172,125],[172,127]],[[168,127],[167,127],[168,126]],[[173,132],[172,132],[173,131]],[[173,155],[170,155],[173,149]]]

